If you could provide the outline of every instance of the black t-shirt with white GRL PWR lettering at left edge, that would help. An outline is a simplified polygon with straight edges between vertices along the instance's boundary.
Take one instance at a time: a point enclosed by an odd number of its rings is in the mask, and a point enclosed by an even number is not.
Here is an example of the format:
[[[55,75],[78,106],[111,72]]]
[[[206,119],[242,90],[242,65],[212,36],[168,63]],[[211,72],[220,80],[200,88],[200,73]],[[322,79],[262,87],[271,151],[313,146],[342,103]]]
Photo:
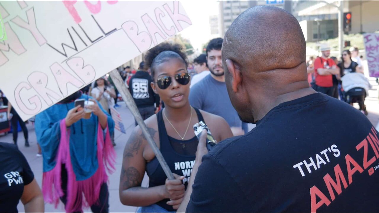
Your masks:
[[[33,179],[28,161],[17,146],[0,142],[0,211],[18,212],[24,186]]]

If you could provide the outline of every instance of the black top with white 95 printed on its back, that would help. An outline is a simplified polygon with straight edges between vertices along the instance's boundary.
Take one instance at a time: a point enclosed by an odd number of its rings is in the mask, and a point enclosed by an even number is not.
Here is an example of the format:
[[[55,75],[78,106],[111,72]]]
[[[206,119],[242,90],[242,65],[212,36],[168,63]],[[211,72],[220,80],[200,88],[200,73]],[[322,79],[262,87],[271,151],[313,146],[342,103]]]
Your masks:
[[[138,108],[159,106],[159,96],[150,86],[152,78],[148,72],[138,71],[129,80],[129,91]]]

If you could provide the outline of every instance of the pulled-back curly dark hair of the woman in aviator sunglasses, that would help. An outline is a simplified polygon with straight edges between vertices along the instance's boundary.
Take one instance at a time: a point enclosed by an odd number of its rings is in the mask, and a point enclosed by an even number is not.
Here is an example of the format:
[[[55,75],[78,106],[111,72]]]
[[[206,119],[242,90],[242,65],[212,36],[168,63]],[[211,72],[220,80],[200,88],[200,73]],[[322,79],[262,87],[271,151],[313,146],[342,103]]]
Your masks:
[[[145,69],[151,70],[152,78],[155,75],[155,66],[168,61],[170,58],[179,58],[188,65],[187,55],[182,45],[171,44],[168,42],[161,43],[150,49],[145,56]]]

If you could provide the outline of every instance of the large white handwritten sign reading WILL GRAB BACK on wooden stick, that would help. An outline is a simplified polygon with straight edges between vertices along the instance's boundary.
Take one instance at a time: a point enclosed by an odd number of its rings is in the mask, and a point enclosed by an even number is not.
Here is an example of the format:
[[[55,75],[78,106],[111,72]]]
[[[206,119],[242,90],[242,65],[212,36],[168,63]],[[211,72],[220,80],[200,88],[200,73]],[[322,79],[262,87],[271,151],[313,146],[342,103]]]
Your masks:
[[[0,1],[0,88],[23,120],[191,25],[179,1]]]

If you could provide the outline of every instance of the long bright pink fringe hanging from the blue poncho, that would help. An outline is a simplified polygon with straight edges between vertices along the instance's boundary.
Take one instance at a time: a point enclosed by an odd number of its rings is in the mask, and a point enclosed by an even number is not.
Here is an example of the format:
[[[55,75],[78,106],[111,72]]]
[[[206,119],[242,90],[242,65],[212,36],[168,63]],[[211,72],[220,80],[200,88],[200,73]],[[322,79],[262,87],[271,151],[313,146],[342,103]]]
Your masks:
[[[105,169],[112,173],[116,152],[113,149],[108,126],[106,127],[105,141],[100,123],[97,128],[97,171],[88,179],[77,181],[72,169],[70,156],[70,130],[66,128],[65,119],[60,123],[61,139],[56,156],[55,167],[44,172],[42,179],[42,193],[46,202],[54,203],[58,207],[60,197],[63,196],[61,187],[61,165],[66,164],[67,170],[67,204],[66,212],[81,211],[82,207],[90,207],[99,200],[100,187],[108,180]],[[85,199],[84,199],[85,198]]]

